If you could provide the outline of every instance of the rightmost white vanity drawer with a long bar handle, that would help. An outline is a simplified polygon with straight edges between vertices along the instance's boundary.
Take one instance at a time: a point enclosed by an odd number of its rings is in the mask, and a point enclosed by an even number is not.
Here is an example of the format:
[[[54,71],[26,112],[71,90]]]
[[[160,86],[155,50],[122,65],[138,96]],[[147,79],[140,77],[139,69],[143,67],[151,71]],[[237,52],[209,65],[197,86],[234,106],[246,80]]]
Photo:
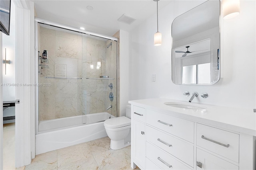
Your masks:
[[[239,135],[197,123],[197,145],[239,162]]]

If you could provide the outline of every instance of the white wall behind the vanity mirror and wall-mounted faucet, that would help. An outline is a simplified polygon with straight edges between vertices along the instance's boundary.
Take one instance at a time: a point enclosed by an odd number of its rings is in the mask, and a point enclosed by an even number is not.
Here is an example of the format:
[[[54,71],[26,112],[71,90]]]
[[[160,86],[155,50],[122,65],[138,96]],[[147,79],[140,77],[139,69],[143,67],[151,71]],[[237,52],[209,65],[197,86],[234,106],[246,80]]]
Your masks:
[[[161,1],[159,2],[161,3]],[[154,46],[156,15],[130,31],[129,100],[170,98],[188,101],[184,91],[208,93],[194,102],[253,109],[256,105],[256,5],[240,1],[240,15],[222,20],[221,80],[214,85],[175,85],[171,80],[171,24],[174,18],[197,6],[200,1],[173,1],[159,10],[162,45]],[[156,74],[156,82],[151,75]]]

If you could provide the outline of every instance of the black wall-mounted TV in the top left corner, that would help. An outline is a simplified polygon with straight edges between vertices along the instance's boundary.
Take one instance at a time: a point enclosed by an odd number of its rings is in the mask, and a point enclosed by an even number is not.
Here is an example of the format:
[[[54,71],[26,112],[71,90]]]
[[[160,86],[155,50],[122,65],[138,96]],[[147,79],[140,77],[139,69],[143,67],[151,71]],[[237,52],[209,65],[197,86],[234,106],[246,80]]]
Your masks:
[[[11,0],[0,0],[0,31],[10,35]]]

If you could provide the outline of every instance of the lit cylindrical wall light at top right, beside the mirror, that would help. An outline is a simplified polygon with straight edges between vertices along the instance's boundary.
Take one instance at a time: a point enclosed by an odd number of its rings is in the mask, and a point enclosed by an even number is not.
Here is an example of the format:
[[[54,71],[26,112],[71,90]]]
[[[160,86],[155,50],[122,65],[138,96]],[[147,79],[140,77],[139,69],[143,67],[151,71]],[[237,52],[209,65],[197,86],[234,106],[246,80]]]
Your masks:
[[[238,16],[240,12],[240,0],[222,0],[223,19]]]

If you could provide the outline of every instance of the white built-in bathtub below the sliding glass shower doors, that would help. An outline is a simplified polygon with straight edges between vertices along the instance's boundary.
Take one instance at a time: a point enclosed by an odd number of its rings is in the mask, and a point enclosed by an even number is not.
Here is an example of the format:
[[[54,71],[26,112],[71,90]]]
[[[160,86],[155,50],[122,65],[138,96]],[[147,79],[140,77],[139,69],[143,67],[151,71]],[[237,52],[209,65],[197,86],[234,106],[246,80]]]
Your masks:
[[[36,155],[106,137],[104,120],[109,117],[114,116],[102,112],[40,121]]]

